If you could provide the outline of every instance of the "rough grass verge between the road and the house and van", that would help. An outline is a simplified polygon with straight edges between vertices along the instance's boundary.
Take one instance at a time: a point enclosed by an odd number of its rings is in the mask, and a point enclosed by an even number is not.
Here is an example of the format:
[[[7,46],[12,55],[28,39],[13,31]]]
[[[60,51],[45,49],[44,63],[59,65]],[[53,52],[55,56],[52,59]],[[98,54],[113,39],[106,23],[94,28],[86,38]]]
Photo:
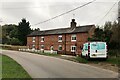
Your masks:
[[[114,52],[114,51],[112,51]],[[81,58],[80,56],[67,56],[67,55],[61,55],[61,54],[51,54],[51,53],[40,53],[40,52],[32,52],[34,54],[39,54],[39,55],[45,55],[45,56],[52,56],[52,57],[56,57],[56,58],[61,58],[61,59],[65,59],[65,60],[70,60],[70,61],[74,61],[77,63],[84,63],[84,64],[89,64],[92,66],[96,66],[96,67],[100,67],[103,69],[108,69],[108,70],[112,70],[115,72],[118,72],[118,68],[120,66],[120,57],[114,55],[115,53],[111,53],[109,54],[109,57],[107,60],[104,59],[90,59],[87,60],[85,58]],[[118,53],[117,53],[118,54]]]

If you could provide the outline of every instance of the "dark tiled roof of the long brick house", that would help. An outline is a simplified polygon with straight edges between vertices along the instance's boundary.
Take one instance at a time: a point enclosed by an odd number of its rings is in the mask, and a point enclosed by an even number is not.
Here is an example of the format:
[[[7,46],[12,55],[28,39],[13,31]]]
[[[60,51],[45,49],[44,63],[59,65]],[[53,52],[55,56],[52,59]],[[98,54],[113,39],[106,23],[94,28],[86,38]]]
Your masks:
[[[77,26],[75,29],[71,30],[71,28],[60,28],[60,29],[52,29],[45,31],[34,31],[28,36],[43,36],[43,35],[51,35],[51,34],[70,34],[70,33],[82,33],[88,32],[94,25],[85,25],[85,26]]]

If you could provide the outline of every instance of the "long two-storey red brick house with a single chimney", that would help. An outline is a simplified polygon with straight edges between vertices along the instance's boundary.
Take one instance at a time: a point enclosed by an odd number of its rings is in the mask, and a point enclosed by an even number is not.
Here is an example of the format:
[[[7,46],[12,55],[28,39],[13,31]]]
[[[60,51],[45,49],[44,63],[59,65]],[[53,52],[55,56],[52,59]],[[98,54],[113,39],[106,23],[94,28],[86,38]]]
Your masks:
[[[27,36],[29,49],[53,50],[61,54],[80,54],[83,43],[94,34],[95,25],[76,26],[72,19],[69,28],[34,31]]]

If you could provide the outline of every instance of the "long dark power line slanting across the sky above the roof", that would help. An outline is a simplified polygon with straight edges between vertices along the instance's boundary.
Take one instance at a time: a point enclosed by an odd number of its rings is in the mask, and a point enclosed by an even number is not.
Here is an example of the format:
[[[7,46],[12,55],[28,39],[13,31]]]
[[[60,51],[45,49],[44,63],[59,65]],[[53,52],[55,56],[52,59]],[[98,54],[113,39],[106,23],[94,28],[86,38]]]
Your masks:
[[[37,24],[34,24],[34,25],[42,24],[42,23],[48,22],[48,21],[50,21],[50,20],[53,20],[53,19],[55,19],[55,18],[58,18],[58,17],[60,17],[60,16],[63,16],[63,15],[65,15],[65,14],[68,14],[68,13],[70,13],[70,12],[72,12],[72,11],[75,11],[75,10],[77,10],[77,9],[79,9],[79,8],[82,8],[82,7],[84,7],[84,6],[86,6],[86,5],[90,4],[90,3],[93,3],[94,1],[96,1],[96,0],[93,0],[93,1],[91,1],[91,2],[88,2],[88,3],[86,3],[86,4],[83,4],[83,5],[79,6],[79,7],[76,7],[76,8],[74,8],[74,9],[72,9],[72,10],[69,10],[69,11],[67,11],[67,12],[64,12],[64,13],[62,13],[62,14],[60,14],[60,15],[57,15],[57,16],[55,16],[55,17],[52,17],[52,18],[50,18],[50,19],[48,19],[48,20],[41,21],[41,22],[39,22],[39,23],[37,23]],[[33,25],[32,25],[32,26],[33,26]]]

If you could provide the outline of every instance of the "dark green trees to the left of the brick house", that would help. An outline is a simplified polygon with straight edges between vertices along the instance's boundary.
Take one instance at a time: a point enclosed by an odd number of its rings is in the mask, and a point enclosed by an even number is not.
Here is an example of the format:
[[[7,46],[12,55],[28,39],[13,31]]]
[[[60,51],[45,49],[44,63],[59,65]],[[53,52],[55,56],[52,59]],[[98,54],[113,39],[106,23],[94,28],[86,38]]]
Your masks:
[[[2,43],[10,45],[26,45],[27,35],[31,32],[29,22],[22,19],[19,25],[9,24],[2,26]]]

